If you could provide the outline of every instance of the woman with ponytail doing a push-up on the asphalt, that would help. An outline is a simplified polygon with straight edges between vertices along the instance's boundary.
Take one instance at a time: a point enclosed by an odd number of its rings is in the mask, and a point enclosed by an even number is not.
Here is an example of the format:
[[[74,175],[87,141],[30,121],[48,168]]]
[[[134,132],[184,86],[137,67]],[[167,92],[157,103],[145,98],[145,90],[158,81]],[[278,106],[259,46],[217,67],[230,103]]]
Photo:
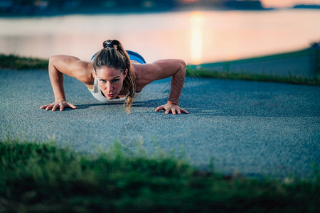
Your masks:
[[[63,75],[75,77],[84,83],[93,97],[100,102],[124,103],[128,113],[134,97],[137,97],[147,84],[172,77],[169,101],[157,107],[156,111],[164,110],[166,114],[188,113],[178,107],[186,76],[186,64],[183,60],[166,59],[146,63],[141,55],[124,50],[118,40],[106,40],[103,47],[94,55],[93,62],[85,62],[68,55],[50,57],[48,70],[55,102],[46,104],[41,109],[77,109],[65,98]]]

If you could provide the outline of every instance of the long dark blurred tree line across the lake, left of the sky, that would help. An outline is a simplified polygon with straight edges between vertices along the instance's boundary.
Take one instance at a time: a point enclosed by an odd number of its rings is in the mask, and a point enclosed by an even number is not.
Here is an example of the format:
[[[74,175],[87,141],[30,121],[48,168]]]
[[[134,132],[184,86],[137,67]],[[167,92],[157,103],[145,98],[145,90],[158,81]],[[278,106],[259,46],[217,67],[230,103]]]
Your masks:
[[[1,13],[121,12],[171,10],[188,7],[263,9],[257,0],[0,0]]]

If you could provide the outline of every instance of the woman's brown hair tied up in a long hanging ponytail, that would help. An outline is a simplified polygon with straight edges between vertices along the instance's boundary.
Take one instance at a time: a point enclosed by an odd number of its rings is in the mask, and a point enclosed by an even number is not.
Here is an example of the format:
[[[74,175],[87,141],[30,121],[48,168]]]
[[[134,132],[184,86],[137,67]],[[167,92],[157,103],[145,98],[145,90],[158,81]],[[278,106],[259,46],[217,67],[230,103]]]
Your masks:
[[[130,114],[130,107],[134,101],[134,91],[136,89],[136,75],[132,70],[129,55],[119,40],[105,40],[103,42],[103,49],[97,53],[93,62],[93,68],[96,71],[100,67],[112,67],[122,70],[122,74],[125,73],[126,69],[128,70],[122,88],[127,94],[124,106],[126,107],[127,113]]]

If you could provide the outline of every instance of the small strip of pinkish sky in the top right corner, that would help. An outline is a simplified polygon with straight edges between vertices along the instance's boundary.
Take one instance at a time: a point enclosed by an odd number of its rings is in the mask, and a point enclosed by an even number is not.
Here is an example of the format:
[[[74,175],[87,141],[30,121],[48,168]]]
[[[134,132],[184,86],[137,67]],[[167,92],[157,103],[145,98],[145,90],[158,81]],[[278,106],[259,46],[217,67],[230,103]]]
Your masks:
[[[265,8],[292,7],[296,4],[319,4],[320,0],[260,0]]]

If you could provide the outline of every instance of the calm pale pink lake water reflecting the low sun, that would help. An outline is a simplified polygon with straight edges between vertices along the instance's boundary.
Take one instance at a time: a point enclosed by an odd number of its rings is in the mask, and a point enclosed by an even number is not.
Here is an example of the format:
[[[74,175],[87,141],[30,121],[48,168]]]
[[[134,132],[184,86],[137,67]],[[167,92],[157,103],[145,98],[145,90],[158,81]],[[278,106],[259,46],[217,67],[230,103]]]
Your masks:
[[[147,62],[188,64],[283,53],[320,41],[320,10],[181,11],[122,15],[0,18],[0,53],[90,60],[118,39]]]

